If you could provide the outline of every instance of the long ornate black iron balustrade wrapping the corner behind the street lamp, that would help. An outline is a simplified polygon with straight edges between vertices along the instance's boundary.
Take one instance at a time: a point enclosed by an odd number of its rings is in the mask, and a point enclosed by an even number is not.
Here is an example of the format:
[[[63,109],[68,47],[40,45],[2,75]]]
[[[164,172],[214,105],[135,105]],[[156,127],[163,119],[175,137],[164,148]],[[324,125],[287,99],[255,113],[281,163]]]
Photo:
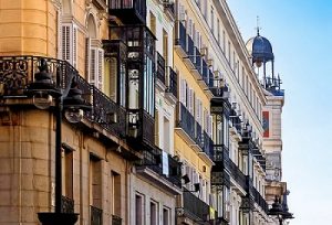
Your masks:
[[[29,84],[33,82],[34,73],[39,72],[40,61],[45,60],[49,73],[56,88],[64,89],[71,76],[82,90],[85,103],[92,104],[91,111],[84,111],[84,117],[118,137],[126,135],[126,110],[114,103],[103,92],[92,86],[66,61],[40,56],[1,56],[0,87],[1,96],[25,96]],[[113,119],[116,118],[116,122]]]

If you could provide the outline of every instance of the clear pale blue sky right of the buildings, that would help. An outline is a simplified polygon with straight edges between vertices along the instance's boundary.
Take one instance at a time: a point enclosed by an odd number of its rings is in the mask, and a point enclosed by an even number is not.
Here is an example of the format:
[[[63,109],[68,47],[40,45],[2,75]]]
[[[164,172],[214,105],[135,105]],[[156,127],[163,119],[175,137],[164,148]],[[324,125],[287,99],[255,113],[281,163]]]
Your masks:
[[[286,89],[283,180],[291,225],[331,224],[332,1],[228,0],[245,41],[270,40]]]

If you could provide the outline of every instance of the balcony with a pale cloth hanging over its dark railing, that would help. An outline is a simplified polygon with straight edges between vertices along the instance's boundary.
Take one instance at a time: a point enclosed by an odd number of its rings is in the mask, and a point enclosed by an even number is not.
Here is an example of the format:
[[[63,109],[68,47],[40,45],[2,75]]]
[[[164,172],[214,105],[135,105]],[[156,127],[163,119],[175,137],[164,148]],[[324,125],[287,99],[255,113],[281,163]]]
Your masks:
[[[159,148],[143,151],[143,159],[136,163],[136,171],[149,182],[179,194],[181,186],[180,163]]]

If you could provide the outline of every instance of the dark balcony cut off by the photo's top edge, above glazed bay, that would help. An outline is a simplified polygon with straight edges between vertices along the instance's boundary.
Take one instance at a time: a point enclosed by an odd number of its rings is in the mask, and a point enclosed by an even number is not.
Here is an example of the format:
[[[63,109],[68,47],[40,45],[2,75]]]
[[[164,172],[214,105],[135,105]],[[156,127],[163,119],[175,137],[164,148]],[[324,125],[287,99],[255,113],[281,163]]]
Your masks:
[[[116,15],[124,24],[145,24],[146,0],[112,0],[108,13]]]

